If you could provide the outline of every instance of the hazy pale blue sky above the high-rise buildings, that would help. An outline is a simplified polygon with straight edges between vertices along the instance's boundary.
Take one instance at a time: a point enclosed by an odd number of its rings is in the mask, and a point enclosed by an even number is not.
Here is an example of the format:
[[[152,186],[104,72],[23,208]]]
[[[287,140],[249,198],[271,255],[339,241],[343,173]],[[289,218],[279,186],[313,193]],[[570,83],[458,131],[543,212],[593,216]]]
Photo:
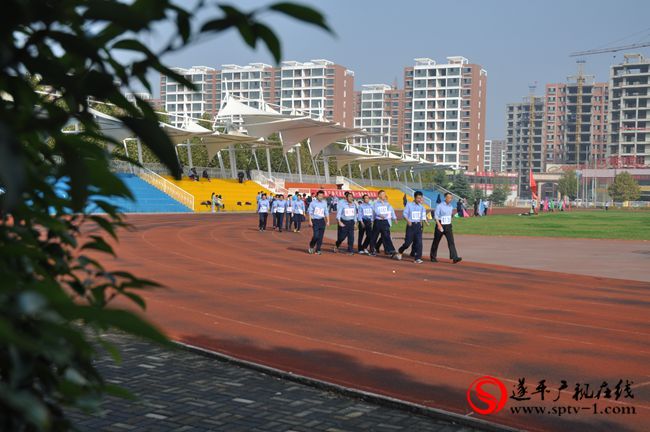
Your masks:
[[[268,1],[233,2],[247,10]],[[355,72],[355,87],[403,87],[403,68],[416,57],[441,62],[462,55],[488,72],[487,138],[505,135],[505,104],[537,94],[576,71],[569,53],[650,41],[649,0],[327,0],[303,1],[321,10],[336,36],[283,17],[268,16],[283,42],[283,58],[328,59]],[[159,29],[164,33],[165,29]],[[155,44],[155,40],[149,41]],[[650,56],[650,49],[637,50]],[[585,72],[607,80],[623,52],[586,57]],[[273,63],[265,47],[249,49],[234,31],[164,58],[168,65]],[[157,78],[156,78],[157,80]]]

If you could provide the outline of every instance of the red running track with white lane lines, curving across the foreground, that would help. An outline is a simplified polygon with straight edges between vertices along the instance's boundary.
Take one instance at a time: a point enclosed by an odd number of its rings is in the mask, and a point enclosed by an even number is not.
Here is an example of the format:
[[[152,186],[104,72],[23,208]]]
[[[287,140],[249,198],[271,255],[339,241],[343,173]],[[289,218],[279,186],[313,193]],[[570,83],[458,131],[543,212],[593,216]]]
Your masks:
[[[330,246],[312,256],[309,227],[260,233],[256,221],[130,216],[137,230],[121,234],[114,264],[166,286],[146,294],[147,316],[189,344],[462,415],[478,377],[497,377],[508,394],[519,378],[528,393],[545,379],[545,402],[508,399],[495,415],[470,415],[533,431],[650,430],[649,284],[473,262],[416,266]],[[572,399],[578,382],[613,389],[619,379],[634,382],[634,399]],[[552,403],[561,380],[568,388]],[[636,414],[592,414],[594,402]],[[510,411],[524,405],[586,409]]]

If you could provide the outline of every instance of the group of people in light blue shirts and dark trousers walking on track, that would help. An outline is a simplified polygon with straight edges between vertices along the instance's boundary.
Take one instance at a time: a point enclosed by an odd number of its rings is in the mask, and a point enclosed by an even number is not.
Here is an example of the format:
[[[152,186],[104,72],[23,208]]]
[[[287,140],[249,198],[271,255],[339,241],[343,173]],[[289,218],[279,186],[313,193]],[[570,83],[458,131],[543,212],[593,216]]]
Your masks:
[[[319,190],[315,196],[303,194],[289,195],[287,199],[283,195],[276,195],[271,200],[266,193],[258,194],[257,213],[259,214],[259,230],[265,231],[268,215],[273,215],[273,227],[282,231],[283,222],[285,230],[294,226],[294,232],[300,231],[301,223],[306,220],[313,230],[309,241],[308,253],[321,255],[325,230],[330,225],[330,214],[332,207],[336,209],[337,239],[334,252],[341,252],[340,248],[347,242],[347,252],[354,255],[355,227],[357,228],[357,252],[369,256],[376,256],[383,246],[386,254],[396,260],[402,259],[402,254],[410,249],[410,256],[414,262],[421,264],[422,260],[422,234],[424,225],[435,224],[434,238],[431,245],[430,259],[437,262],[437,251],[442,237],[447,239],[449,257],[454,263],[462,260],[458,256],[452,231],[452,216],[455,211],[452,206],[451,194],[445,194],[444,202],[438,204],[435,210],[429,211],[424,207],[422,192],[413,194],[413,201],[407,202],[402,213],[406,222],[406,233],[404,243],[395,248],[391,238],[391,226],[397,221],[395,210],[388,202],[386,192],[378,192],[377,199],[372,201],[367,194],[364,194],[360,201],[355,202],[351,192],[345,193],[336,206],[325,198],[325,193]],[[286,215],[286,221],[285,221]],[[430,222],[430,220],[432,222]]]

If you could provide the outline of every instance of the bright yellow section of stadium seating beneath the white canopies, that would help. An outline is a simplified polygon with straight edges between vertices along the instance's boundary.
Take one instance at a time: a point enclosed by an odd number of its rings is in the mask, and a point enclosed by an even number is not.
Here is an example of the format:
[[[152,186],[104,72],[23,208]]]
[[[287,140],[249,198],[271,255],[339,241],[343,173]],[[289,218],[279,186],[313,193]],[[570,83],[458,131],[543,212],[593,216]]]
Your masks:
[[[194,180],[183,179],[174,180],[172,177],[165,177],[170,182],[174,183],[181,189],[194,195],[194,211],[205,212],[210,211],[211,206],[201,205],[204,201],[210,201],[212,192],[221,195],[225,211],[255,211],[257,210],[257,203],[255,197],[259,191],[264,191],[267,194],[270,192],[264,189],[254,181],[245,181],[239,183],[235,179],[210,179],[208,182],[205,179],[197,182]],[[249,202],[250,205],[246,205]],[[241,205],[238,205],[241,203]]]

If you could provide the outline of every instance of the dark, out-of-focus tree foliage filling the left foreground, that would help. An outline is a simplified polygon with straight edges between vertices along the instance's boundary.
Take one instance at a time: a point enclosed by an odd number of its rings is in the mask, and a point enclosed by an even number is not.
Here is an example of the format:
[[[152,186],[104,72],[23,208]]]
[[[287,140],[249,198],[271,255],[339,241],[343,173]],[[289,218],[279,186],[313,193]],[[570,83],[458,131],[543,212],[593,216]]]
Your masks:
[[[140,98],[128,102],[123,89],[138,84],[151,91],[153,71],[194,88],[160,58],[200,33],[234,28],[248,45],[261,41],[279,60],[277,36],[259,21],[264,12],[328,29],[320,13],[292,3],[252,11],[191,3],[193,9],[172,0],[2,4],[0,430],[68,430],[67,408],[93,409],[102,394],[122,394],[93,366],[97,343],[106,345],[105,329],[165,341],[138,315],[114,306],[124,298],[144,309],[138,292],[156,284],[100,261],[113,253],[111,239],[126,225],[107,198],[131,193],[109,170],[108,144],[119,149],[122,143],[102,134],[89,100],[112,104],[149,154],[178,176],[174,148],[154,110]],[[196,26],[199,15],[208,18]],[[154,52],[140,36],[160,22],[175,31]],[[78,133],[69,133],[71,124]]]

